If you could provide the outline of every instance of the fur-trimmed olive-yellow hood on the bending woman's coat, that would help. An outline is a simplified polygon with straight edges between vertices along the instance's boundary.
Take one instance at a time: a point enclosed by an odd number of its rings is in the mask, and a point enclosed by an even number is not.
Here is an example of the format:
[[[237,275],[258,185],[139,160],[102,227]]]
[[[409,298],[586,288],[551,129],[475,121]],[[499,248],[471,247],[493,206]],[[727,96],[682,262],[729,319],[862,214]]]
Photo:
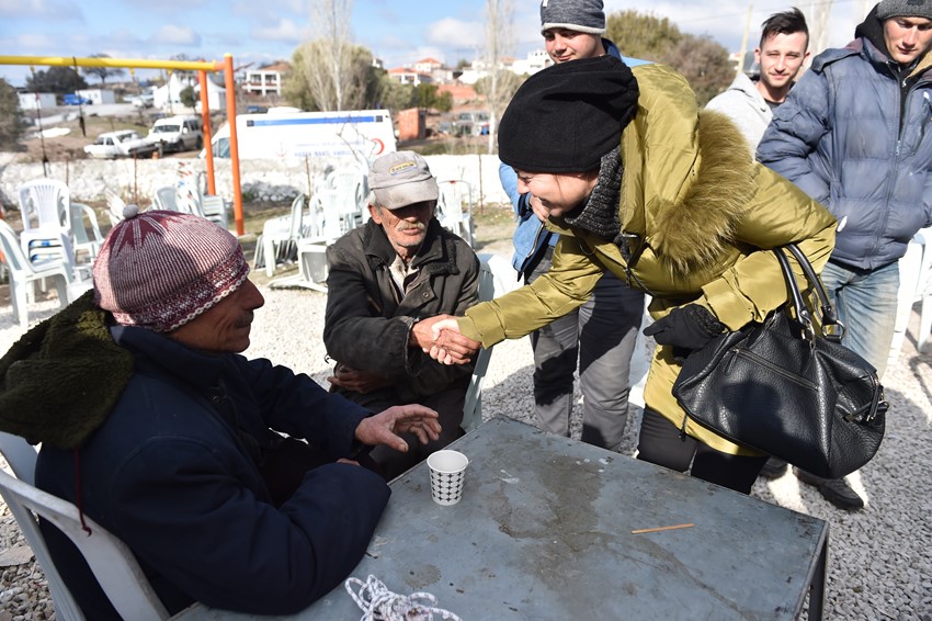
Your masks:
[[[637,67],[635,76],[638,111],[622,135],[622,237],[649,249],[661,280],[694,280],[734,256],[758,165],[735,123],[700,110],[682,76],[662,65]],[[550,228],[586,237],[565,221]]]

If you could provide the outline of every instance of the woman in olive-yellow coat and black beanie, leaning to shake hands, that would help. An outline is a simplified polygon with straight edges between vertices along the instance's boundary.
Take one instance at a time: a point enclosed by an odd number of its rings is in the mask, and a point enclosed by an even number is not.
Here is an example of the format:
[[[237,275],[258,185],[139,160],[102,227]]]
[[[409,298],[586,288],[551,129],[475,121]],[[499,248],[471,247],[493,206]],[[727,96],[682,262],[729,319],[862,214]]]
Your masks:
[[[682,76],[611,56],[555,65],[515,93],[499,156],[560,235],[549,272],[434,329],[490,347],[589,298],[605,272],[652,296],[658,348],[645,387],[638,459],[749,493],[766,461],[686,418],[672,395],[682,354],[786,302],[769,249],[797,244],[820,269],[834,218],[751,160],[741,133],[700,111]],[[780,286],[776,286],[781,283]]]

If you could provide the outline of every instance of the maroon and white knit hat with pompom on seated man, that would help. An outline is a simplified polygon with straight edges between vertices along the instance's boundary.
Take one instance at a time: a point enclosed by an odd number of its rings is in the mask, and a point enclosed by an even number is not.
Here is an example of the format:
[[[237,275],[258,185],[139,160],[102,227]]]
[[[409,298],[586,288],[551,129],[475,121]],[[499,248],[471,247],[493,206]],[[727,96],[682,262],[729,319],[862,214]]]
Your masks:
[[[134,205],[103,240],[94,301],[117,324],[169,332],[239,289],[249,264],[237,239],[200,216],[138,213]]]

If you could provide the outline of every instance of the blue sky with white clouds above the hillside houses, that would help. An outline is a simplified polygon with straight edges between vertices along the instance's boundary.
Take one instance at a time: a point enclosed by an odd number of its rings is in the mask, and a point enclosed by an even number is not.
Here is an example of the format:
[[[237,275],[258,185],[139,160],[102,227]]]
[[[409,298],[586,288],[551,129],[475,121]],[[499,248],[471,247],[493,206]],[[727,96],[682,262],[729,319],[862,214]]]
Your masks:
[[[345,1],[345,0],[344,0]],[[511,0],[514,56],[542,46],[538,0]],[[826,0],[818,0],[825,5]],[[751,13],[750,47],[761,21],[791,3],[763,0]],[[797,2],[814,21],[812,1]],[[841,0],[829,16],[828,46],[844,45],[873,3]],[[635,9],[670,18],[682,31],[708,34],[737,50],[748,3],[732,0],[606,0],[606,13]],[[455,65],[481,54],[485,0],[355,0],[350,31],[387,68],[428,56]],[[288,59],[310,36],[309,0],[0,0],[0,55],[221,59],[253,67]],[[624,52],[624,42],[617,42]],[[43,69],[44,67],[36,67]],[[0,77],[22,86],[29,68],[0,65]],[[146,72],[137,72],[140,78]]]

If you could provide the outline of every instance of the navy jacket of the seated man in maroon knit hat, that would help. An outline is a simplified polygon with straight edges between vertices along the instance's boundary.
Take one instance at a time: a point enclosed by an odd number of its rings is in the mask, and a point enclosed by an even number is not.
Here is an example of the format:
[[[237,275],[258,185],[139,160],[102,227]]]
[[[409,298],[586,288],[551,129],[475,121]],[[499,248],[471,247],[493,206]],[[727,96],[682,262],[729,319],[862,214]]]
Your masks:
[[[93,338],[82,334],[89,318]],[[112,328],[106,342],[103,318],[84,296],[0,364],[2,428],[43,442],[36,485],[123,540],[172,613],[194,601],[294,613],[339,585],[362,558],[388,487],[333,463],[275,508],[255,460],[282,441],[270,427],[349,456],[367,411],[266,360],[204,354],[133,327]],[[109,399],[109,411],[84,407]],[[56,416],[60,425],[47,425]],[[62,438],[62,428],[81,431]],[[87,617],[113,618],[77,550],[43,531]]]

